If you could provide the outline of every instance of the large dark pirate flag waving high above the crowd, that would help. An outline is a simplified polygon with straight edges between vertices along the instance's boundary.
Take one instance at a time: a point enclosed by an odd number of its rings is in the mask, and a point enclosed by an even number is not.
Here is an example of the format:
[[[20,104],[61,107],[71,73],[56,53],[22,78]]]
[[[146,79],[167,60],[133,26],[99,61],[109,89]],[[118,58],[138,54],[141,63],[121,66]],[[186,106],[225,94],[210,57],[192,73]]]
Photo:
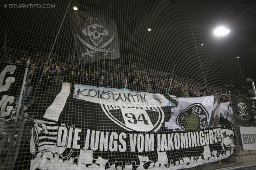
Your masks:
[[[115,21],[91,12],[72,15],[74,38],[80,62],[120,58]]]

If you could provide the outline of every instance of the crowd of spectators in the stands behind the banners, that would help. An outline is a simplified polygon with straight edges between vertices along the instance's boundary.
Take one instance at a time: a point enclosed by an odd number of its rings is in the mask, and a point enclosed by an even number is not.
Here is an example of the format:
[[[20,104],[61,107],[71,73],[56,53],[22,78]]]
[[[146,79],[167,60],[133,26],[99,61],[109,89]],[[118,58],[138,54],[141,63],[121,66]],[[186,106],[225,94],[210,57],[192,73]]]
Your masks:
[[[14,57],[12,54],[2,53],[1,65],[15,64],[25,66],[27,55]],[[23,71],[23,70],[22,70]],[[21,74],[21,76],[24,76]],[[229,101],[228,91],[241,97],[253,97],[248,89],[235,89],[233,86],[216,86],[204,84],[195,80],[173,78],[171,75],[156,75],[136,71],[130,63],[120,64],[114,61],[100,60],[83,65],[79,63],[48,61],[46,57],[30,57],[29,72],[22,103],[28,102],[32,96],[40,95],[56,82],[70,84],[87,84],[108,88],[127,88],[132,91],[170,94],[176,97],[200,97],[221,95],[221,101]]]

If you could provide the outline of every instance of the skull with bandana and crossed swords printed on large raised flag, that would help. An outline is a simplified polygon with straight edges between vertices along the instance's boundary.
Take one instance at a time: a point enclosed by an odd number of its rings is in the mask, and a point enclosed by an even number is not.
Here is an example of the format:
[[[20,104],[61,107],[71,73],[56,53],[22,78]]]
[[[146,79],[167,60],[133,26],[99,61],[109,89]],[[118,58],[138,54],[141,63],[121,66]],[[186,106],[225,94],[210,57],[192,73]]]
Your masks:
[[[115,33],[112,37],[104,44],[101,45],[103,39],[106,39],[109,35],[109,31],[105,26],[105,22],[100,20],[99,18],[90,17],[85,21],[85,26],[82,28],[82,33],[85,36],[88,36],[91,40],[90,42],[84,41],[79,35],[76,34],[78,39],[86,45],[86,52],[82,53],[82,55],[93,56],[93,53],[101,52],[103,55],[107,55],[114,51],[114,49],[110,49],[108,45],[113,41]],[[106,47],[106,48],[104,48]]]

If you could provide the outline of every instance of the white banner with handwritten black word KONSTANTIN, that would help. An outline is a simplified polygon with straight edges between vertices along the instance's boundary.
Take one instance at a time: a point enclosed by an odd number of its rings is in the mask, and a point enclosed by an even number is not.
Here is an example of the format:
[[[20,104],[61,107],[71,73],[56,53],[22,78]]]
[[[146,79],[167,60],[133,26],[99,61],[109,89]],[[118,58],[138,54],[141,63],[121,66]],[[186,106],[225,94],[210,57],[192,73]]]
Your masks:
[[[128,89],[75,85],[74,98],[98,104],[128,107],[172,106],[162,94],[132,92]]]

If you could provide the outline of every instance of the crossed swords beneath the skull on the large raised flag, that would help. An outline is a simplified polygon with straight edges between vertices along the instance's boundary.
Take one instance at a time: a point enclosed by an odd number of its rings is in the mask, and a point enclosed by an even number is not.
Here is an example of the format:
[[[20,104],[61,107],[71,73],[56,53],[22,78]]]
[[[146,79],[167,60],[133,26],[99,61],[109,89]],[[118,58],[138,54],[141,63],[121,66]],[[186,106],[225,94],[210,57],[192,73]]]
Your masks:
[[[76,36],[78,37],[78,39],[79,39],[84,45],[86,45],[86,47],[92,49],[92,51],[89,51],[89,49],[86,49],[86,52],[87,52],[87,53],[84,53],[84,55],[87,55],[87,54],[88,54],[90,57],[92,57],[92,56],[93,56],[92,54],[93,54],[93,53],[96,53],[97,51],[98,51],[98,52],[103,52],[103,53],[105,53],[105,54],[103,54],[103,55],[107,55],[108,52],[111,53],[111,52],[115,51],[114,49],[113,49],[112,51],[110,51],[110,48],[108,48],[108,49],[103,49],[104,47],[106,47],[107,45],[109,45],[109,44],[113,41],[114,36],[115,36],[115,33],[114,33],[114,35],[113,35],[106,43],[104,43],[103,45],[101,45],[99,48],[93,47],[92,45],[86,43],[81,37],[79,37],[79,35],[76,34]]]

